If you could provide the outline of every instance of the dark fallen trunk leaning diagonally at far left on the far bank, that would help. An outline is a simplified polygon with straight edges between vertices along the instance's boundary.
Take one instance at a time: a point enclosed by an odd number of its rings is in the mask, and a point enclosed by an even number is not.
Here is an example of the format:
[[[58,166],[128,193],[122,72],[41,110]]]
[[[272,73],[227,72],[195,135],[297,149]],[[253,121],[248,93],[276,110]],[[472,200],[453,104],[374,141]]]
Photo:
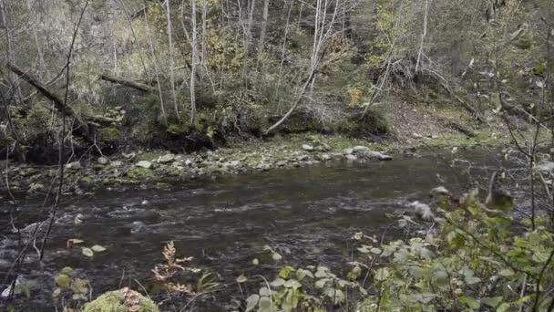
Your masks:
[[[78,116],[75,110],[73,110],[70,106],[66,105],[64,100],[60,98],[56,93],[50,91],[44,84],[42,84],[40,81],[36,80],[36,78],[32,77],[25,71],[23,71],[21,68],[18,68],[14,64],[7,63],[7,68],[9,68],[11,71],[13,71],[19,78],[24,79],[29,85],[33,86],[40,92],[43,96],[46,97],[46,99],[50,99],[54,105],[56,106],[56,109],[62,112],[66,117],[74,119],[75,123],[77,124],[77,129],[74,130],[76,134],[78,134],[80,137],[90,140],[89,131],[88,131],[88,125],[87,122],[84,122],[81,120]]]

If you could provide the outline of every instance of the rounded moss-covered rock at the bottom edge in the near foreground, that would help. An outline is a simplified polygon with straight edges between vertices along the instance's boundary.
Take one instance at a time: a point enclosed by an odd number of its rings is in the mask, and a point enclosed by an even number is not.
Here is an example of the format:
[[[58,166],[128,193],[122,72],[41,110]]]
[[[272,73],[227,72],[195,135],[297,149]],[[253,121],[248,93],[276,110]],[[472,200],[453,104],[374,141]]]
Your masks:
[[[139,312],[159,312],[156,303],[127,287],[98,296],[85,306],[83,312],[128,312],[131,308]]]

